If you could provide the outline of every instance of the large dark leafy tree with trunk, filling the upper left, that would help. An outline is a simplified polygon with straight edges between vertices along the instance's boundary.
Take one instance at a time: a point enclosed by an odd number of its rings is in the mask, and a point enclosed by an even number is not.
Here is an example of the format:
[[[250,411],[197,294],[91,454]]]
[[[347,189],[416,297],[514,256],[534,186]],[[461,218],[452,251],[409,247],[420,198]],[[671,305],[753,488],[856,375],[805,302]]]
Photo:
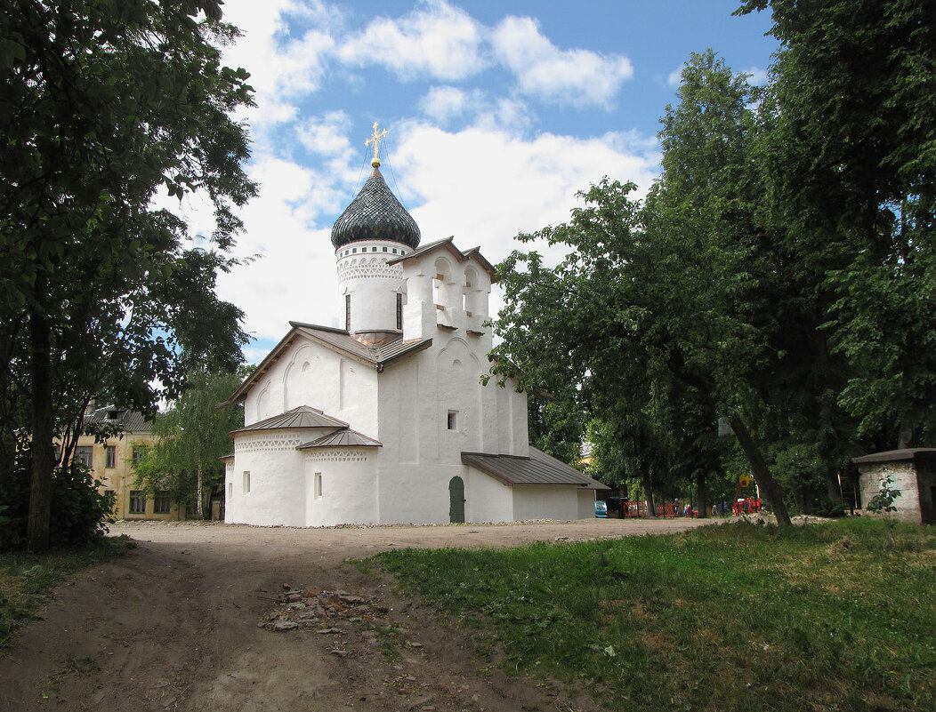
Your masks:
[[[2,0],[2,439],[31,461],[31,549],[49,545],[53,437],[89,400],[152,412],[154,381],[171,396],[187,365],[240,361],[241,312],[213,285],[256,193],[230,118],[252,90],[220,63],[237,30],[219,6]],[[210,249],[183,249],[161,190],[212,201]]]

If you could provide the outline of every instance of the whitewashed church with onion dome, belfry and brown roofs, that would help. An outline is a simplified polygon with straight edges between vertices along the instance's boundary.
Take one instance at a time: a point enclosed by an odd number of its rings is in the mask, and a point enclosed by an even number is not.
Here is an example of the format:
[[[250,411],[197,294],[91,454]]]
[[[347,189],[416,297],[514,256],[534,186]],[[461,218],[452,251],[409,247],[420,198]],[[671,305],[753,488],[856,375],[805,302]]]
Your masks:
[[[331,230],[344,328],[290,329],[228,402],[225,521],[321,527],[578,519],[604,485],[532,447],[527,400],[487,385],[494,269],[419,245],[380,161]]]

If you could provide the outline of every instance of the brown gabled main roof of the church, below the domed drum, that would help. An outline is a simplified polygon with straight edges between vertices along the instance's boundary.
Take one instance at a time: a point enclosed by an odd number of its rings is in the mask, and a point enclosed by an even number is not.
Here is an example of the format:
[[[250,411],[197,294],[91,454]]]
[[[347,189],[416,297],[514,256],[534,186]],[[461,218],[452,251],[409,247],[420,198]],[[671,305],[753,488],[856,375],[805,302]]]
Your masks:
[[[272,365],[280,360],[280,356],[283,356],[285,350],[293,344],[293,341],[296,341],[298,336],[320,343],[332,351],[353,358],[365,366],[372,366],[376,371],[383,371],[388,363],[401,356],[421,351],[432,345],[431,338],[427,338],[412,339],[410,341],[402,341],[401,339],[391,341],[383,346],[371,347],[355,339],[343,328],[321,327],[316,324],[303,324],[302,322],[289,322],[289,326],[292,328],[289,329],[285,337],[273,347],[266,358],[260,361],[256,369],[250,372],[250,375],[241,382],[237,390],[226,401],[218,404],[218,408],[224,408],[231,403],[242,400],[247,395],[247,391],[259,383],[264,373],[270,371]]]

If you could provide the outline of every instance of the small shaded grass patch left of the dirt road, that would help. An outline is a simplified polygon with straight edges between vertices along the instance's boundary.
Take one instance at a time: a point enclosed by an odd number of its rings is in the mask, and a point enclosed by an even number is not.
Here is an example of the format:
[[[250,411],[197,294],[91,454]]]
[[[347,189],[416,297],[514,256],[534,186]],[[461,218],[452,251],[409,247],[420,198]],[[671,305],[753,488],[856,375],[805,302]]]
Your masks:
[[[123,554],[136,546],[127,537],[108,537],[85,549],[66,549],[49,554],[0,554],[0,649],[13,633],[51,599],[52,589],[71,574]]]

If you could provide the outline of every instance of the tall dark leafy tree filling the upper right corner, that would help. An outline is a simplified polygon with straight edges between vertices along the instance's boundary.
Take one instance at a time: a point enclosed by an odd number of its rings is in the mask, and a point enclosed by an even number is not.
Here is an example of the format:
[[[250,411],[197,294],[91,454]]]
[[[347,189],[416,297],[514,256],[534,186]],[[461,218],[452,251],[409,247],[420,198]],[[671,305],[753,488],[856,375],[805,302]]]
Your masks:
[[[812,270],[839,403],[875,448],[936,437],[936,17],[927,0],[749,0],[782,43],[758,165]]]

